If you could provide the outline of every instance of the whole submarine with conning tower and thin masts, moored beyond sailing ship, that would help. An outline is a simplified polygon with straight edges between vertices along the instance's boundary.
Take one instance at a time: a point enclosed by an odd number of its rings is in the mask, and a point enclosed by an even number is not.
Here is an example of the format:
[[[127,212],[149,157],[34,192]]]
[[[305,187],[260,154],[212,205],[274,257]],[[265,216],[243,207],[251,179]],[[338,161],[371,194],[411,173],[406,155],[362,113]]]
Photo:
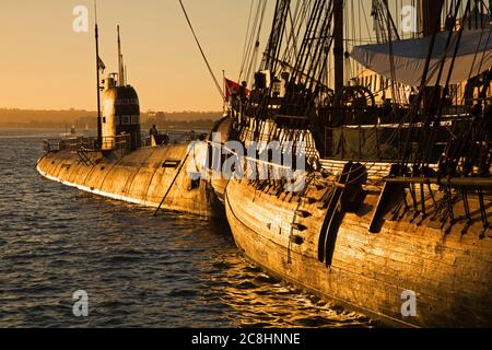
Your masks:
[[[97,23],[95,38],[97,137],[44,140],[39,174],[83,191],[156,208],[155,213],[165,209],[215,217],[220,201],[211,185],[189,171],[196,167],[197,153],[207,150],[163,142],[159,135],[142,140],[139,97],[126,81],[119,26],[118,73],[102,81]]]

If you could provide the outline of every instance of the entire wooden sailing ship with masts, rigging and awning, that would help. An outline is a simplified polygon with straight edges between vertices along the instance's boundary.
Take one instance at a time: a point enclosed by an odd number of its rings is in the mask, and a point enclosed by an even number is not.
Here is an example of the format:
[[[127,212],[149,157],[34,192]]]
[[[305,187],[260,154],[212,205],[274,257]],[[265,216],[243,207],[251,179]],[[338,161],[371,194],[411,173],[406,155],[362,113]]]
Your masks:
[[[490,327],[490,9],[421,0],[420,31],[402,38],[374,0],[377,43],[349,52],[354,3],[278,0],[256,70],[261,21],[250,26],[250,92],[232,96],[227,140],[257,154],[276,142],[307,166],[289,168],[300,191],[259,158],[241,173],[267,178],[212,184],[235,243],[268,273],[391,324]]]

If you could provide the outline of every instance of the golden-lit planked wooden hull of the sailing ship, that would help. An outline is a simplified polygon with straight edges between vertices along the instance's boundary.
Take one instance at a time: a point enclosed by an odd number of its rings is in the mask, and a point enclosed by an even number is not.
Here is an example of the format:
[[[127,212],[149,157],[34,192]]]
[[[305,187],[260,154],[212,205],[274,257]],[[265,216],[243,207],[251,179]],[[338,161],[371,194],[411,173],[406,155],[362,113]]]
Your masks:
[[[321,175],[314,182],[326,183]],[[382,187],[371,186],[353,212],[330,203],[332,189],[295,195],[231,180],[225,210],[238,248],[270,275],[390,324],[492,325],[492,240],[480,237],[480,224],[461,221],[445,232],[434,213],[422,220],[408,210],[371,233]],[[405,291],[417,294],[415,316],[402,316]]]

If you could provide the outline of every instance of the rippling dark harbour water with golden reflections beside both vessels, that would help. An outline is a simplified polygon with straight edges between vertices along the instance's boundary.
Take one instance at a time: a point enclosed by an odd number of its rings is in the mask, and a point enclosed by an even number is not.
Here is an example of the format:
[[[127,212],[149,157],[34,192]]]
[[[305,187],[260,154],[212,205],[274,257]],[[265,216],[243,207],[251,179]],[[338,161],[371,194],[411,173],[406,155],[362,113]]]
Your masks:
[[[0,327],[374,325],[263,275],[226,228],[42,178],[48,136],[0,130]],[[72,314],[77,290],[86,318]]]

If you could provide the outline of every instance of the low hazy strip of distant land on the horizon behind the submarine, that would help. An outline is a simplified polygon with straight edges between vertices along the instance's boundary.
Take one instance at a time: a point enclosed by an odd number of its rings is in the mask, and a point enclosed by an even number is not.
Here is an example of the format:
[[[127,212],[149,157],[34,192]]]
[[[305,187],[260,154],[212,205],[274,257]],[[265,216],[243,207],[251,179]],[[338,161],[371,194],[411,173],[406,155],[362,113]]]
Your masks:
[[[26,110],[0,108],[0,127],[75,128],[96,127],[96,112],[93,110]],[[141,114],[142,126],[152,124],[167,127],[208,127],[222,117],[222,112],[147,112]]]

